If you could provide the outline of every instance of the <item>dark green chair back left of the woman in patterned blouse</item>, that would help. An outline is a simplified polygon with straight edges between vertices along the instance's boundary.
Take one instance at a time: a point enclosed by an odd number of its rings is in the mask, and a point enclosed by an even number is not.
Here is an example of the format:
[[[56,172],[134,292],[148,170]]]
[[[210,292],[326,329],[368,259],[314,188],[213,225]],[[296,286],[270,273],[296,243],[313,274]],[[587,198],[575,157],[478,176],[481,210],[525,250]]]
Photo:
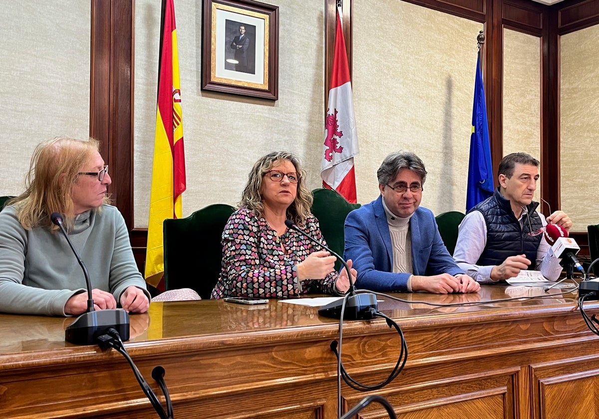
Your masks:
[[[186,218],[164,220],[165,289],[190,288],[209,299],[222,263],[220,239],[235,208],[208,205]]]

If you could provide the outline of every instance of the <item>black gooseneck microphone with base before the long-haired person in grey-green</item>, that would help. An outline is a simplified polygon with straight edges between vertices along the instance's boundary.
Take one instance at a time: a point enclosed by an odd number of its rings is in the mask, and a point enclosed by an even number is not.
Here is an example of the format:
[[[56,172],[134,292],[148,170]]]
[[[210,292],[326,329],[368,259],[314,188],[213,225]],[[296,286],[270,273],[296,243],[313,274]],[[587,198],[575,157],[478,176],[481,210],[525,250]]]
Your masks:
[[[119,332],[123,341],[129,339],[129,314],[123,309],[104,309],[95,311],[93,309],[92,281],[89,279],[89,273],[83,260],[79,257],[77,250],[73,246],[71,239],[66,234],[65,227],[62,225],[62,216],[58,212],[50,215],[52,223],[56,224],[62,235],[65,236],[71,250],[77,258],[77,262],[83,269],[83,275],[87,286],[87,311],[81,314],[66,327],[65,340],[75,345],[93,345],[97,343],[98,336],[104,335],[108,329],[113,327]]]

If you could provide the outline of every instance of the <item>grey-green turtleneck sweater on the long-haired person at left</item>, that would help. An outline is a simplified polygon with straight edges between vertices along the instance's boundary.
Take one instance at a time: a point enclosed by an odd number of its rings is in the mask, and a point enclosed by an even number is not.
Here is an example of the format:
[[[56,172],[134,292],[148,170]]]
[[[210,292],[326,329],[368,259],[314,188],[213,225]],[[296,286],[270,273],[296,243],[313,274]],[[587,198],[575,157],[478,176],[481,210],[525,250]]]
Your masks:
[[[129,286],[146,283],[135,265],[125,220],[112,205],[77,215],[68,232],[89,271],[92,289],[113,294],[117,303]],[[13,206],[0,212],[0,311],[66,315],[66,300],[86,292],[85,277],[65,237],[44,227],[25,230]]]

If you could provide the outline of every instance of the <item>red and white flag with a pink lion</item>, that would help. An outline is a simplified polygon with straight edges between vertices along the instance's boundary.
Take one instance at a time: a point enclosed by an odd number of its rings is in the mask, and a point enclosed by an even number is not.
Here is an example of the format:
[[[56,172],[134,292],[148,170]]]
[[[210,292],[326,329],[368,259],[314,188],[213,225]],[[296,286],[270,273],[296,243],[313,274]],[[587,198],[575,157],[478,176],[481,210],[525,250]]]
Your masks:
[[[334,189],[348,202],[356,203],[356,176],[353,156],[358,154],[358,133],[353,113],[352,81],[341,28],[341,10],[337,8],[337,31],[331,72],[329,103],[325,116],[320,177],[322,185]]]

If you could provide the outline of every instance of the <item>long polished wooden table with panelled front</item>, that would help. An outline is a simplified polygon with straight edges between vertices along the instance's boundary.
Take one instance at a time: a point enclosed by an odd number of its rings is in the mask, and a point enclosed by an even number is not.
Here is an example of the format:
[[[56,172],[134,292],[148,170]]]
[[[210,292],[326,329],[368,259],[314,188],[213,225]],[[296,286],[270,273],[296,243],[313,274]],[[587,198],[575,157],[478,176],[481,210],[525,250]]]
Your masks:
[[[559,290],[551,290],[556,293]],[[530,289],[524,293],[530,293]],[[542,291],[541,291],[542,292]],[[400,418],[599,417],[599,338],[583,323],[576,294],[435,308],[417,302],[484,302],[522,296],[504,286],[479,294],[379,297],[398,321],[409,358],[382,390]],[[588,312],[599,304],[589,302]],[[0,417],[158,417],[128,363],[114,350],[64,341],[71,319],[0,314]],[[131,316],[129,354],[151,382],[162,365],[181,418],[337,417],[337,364],[329,344],[338,321],[317,308],[271,300],[152,303]],[[352,377],[375,384],[397,361],[400,339],[385,321],[343,327]],[[367,393],[342,383],[343,411]],[[361,418],[387,417],[370,405]]]

